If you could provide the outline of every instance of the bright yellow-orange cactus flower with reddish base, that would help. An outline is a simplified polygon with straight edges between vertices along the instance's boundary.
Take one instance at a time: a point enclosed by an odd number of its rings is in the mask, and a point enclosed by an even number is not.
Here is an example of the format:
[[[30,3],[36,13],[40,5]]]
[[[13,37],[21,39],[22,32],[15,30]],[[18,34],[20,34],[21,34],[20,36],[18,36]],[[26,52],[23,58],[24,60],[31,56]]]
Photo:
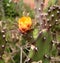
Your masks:
[[[32,25],[32,20],[30,17],[21,17],[19,20],[18,20],[18,26],[19,26],[19,30],[22,32],[22,33],[26,33],[28,30],[31,29],[31,25]]]

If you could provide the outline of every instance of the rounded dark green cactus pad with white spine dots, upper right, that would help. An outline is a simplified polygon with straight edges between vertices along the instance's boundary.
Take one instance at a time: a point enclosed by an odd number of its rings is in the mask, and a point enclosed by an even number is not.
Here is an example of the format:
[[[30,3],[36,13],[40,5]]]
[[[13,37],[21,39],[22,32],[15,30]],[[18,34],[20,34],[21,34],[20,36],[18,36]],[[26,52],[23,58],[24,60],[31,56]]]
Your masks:
[[[49,8],[47,15],[48,27],[51,27],[52,31],[60,30],[60,6],[54,5]]]

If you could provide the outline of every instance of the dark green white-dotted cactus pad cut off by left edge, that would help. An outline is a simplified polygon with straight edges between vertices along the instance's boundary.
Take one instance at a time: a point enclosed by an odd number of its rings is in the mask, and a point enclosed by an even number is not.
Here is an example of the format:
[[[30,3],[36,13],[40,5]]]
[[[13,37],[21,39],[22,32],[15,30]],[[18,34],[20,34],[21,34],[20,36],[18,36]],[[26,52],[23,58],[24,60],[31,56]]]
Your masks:
[[[6,46],[5,31],[0,30],[0,59],[2,59],[2,55],[4,54],[5,46]]]

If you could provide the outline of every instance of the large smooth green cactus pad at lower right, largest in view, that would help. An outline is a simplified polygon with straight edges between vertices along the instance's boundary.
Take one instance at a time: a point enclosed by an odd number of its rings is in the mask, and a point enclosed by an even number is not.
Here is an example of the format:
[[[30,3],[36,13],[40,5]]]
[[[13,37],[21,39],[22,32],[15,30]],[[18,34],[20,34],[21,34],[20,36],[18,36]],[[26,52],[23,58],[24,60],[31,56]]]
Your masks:
[[[51,35],[48,31],[44,30],[40,34],[38,40],[36,40],[35,47],[37,47],[37,51],[30,50],[29,58],[33,61],[42,60],[43,63],[49,63],[49,58],[45,58],[44,56],[50,56],[51,54]]]

